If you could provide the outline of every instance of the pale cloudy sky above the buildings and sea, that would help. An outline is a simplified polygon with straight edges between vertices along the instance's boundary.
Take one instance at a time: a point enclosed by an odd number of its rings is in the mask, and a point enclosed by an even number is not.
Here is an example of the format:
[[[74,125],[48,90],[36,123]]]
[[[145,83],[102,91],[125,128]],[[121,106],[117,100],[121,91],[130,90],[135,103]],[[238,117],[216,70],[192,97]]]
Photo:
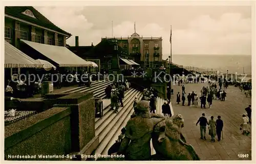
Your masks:
[[[162,37],[163,56],[170,54],[251,54],[249,6],[85,6],[35,7],[72,34],[67,44],[98,44],[101,37]],[[163,59],[164,59],[163,57]]]

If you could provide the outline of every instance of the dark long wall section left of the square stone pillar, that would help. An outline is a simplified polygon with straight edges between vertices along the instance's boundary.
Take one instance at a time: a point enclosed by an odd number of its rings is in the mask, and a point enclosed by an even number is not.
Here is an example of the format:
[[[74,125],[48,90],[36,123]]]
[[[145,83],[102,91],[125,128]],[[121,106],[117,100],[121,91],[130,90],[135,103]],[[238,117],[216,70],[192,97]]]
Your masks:
[[[71,151],[71,108],[53,107],[5,127],[5,158],[7,160],[33,160],[13,158],[12,155],[65,155]]]

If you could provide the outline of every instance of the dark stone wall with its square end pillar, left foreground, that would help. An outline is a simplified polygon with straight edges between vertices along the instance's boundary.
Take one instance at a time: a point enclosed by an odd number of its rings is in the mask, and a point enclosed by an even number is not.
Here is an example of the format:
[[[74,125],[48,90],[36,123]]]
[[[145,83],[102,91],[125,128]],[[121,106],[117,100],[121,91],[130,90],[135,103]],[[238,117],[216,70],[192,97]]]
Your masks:
[[[53,99],[54,107],[5,126],[7,160],[70,160],[39,158],[38,155],[92,154],[99,144],[95,136],[95,100],[92,93],[73,93]],[[39,106],[39,105],[38,105]],[[17,158],[15,155],[24,155]],[[34,158],[26,158],[28,156]]]

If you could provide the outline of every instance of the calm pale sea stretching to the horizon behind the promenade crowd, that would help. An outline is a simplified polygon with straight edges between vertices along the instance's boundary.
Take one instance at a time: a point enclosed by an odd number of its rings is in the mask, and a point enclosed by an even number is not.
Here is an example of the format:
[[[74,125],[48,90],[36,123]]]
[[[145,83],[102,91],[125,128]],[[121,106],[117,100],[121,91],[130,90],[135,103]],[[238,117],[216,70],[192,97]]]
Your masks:
[[[172,63],[194,71],[251,75],[251,55],[172,54]]]

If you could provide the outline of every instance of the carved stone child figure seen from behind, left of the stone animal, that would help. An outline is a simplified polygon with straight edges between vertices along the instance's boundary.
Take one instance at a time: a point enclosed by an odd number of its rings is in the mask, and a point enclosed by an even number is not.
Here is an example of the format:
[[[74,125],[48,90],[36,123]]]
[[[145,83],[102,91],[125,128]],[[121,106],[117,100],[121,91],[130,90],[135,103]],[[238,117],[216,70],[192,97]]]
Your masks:
[[[145,100],[139,101],[134,108],[134,117],[127,122],[118,154],[124,154],[125,160],[150,160],[152,132],[164,117],[150,114],[150,103]]]

